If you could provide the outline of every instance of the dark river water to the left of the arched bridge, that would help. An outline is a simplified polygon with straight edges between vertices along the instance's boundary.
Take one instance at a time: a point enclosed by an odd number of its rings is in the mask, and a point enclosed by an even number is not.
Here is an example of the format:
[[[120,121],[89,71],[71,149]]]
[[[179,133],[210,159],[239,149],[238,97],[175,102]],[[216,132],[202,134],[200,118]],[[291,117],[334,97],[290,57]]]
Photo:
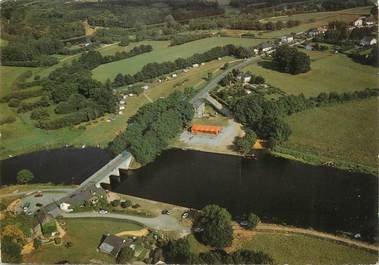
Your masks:
[[[32,183],[80,184],[111,159],[97,148],[61,148],[0,161],[0,185],[16,183],[17,172],[29,169]]]

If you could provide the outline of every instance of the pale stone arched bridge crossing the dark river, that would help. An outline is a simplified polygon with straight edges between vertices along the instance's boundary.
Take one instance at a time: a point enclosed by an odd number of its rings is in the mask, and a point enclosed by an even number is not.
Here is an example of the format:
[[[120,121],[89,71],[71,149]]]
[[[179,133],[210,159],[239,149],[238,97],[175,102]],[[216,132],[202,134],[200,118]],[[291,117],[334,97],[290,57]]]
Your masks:
[[[133,161],[133,156],[128,151],[123,151],[121,154],[109,161],[108,164],[100,168],[92,176],[88,177],[80,184],[80,187],[101,184],[111,185],[113,181],[121,182],[122,173],[129,168]]]

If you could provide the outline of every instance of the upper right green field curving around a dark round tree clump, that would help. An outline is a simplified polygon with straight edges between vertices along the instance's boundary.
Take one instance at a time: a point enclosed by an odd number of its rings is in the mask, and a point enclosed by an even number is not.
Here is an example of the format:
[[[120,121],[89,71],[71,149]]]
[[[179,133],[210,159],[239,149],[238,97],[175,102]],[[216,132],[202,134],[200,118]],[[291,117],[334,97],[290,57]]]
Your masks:
[[[321,92],[341,93],[378,87],[375,67],[355,63],[343,54],[329,51],[306,53],[311,57],[311,70],[308,73],[281,73],[264,66],[270,61],[249,65],[244,70],[262,75],[267,83],[295,95],[303,93],[305,96],[317,96]]]

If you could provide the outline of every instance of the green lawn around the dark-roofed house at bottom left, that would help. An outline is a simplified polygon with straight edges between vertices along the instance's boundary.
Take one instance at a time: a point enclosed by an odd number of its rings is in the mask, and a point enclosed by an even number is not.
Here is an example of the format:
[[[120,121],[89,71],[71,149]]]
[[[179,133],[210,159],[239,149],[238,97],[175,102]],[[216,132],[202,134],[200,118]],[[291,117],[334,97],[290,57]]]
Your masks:
[[[43,245],[40,249],[25,257],[28,263],[54,264],[67,260],[70,263],[91,263],[101,260],[103,263],[115,263],[112,256],[96,251],[103,234],[115,234],[127,230],[140,230],[142,226],[116,219],[64,219],[67,233],[64,242],[71,241],[72,247]],[[92,262],[93,263],[93,262]]]

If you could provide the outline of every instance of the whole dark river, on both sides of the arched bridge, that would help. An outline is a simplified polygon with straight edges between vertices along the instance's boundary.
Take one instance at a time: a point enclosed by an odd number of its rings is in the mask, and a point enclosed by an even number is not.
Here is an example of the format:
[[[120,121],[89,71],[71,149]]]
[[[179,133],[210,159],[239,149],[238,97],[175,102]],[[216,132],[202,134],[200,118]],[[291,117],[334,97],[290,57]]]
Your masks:
[[[1,161],[1,183],[30,169],[33,182],[79,184],[110,160],[100,149],[64,148]],[[261,155],[258,160],[168,150],[153,163],[123,174],[112,190],[200,209],[218,204],[238,216],[373,240],[378,222],[375,176]]]

